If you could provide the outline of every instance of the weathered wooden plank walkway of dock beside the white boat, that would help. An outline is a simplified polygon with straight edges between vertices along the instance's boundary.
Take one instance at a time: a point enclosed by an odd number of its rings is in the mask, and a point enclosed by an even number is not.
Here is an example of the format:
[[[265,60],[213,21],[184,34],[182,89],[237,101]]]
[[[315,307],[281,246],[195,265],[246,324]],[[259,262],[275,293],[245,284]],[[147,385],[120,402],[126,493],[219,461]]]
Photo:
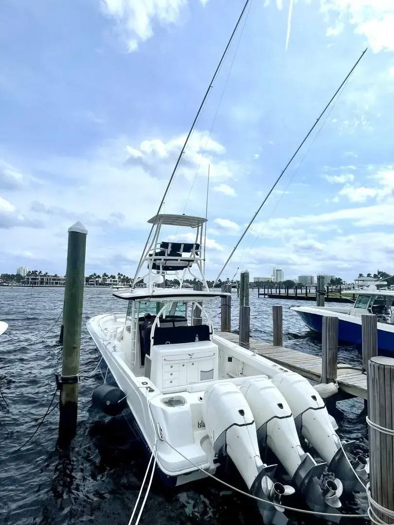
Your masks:
[[[239,344],[239,335],[237,333],[216,331],[215,335]],[[292,372],[297,372],[297,374],[302,375],[306,379],[320,381],[322,376],[322,358],[319,358],[317,355],[307,354],[292,348],[285,348],[284,346],[274,346],[252,338],[248,348]],[[367,399],[367,375],[365,373],[362,373],[361,370],[348,368],[346,364],[338,364],[337,374],[340,391],[354,397]]]

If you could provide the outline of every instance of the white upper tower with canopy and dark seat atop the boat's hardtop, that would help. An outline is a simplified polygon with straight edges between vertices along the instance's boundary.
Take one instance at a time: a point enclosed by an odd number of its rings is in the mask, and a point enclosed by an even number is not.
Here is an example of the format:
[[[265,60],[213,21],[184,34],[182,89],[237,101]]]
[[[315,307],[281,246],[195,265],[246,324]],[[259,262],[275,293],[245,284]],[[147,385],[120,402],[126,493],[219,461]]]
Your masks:
[[[203,285],[203,290],[209,291],[206,283],[203,264],[204,264],[204,242],[203,238],[206,218],[195,217],[192,215],[173,215],[173,214],[158,214],[148,220],[152,224],[152,229],[149,234],[146,248],[139,261],[136,275],[133,280],[133,288],[138,282],[144,281],[147,284],[147,292],[152,293],[156,286],[162,285],[165,282],[166,275],[178,276],[178,272],[182,274],[179,278],[179,288],[182,288],[183,281],[186,277],[186,272],[195,278]],[[176,242],[160,240],[162,226],[177,226],[187,227],[195,230],[186,235],[191,237],[192,242]],[[147,263],[148,272],[140,275],[143,265]],[[195,275],[191,268],[195,265],[198,269]],[[145,280],[146,279],[146,280]],[[164,286],[164,285],[163,285]]]

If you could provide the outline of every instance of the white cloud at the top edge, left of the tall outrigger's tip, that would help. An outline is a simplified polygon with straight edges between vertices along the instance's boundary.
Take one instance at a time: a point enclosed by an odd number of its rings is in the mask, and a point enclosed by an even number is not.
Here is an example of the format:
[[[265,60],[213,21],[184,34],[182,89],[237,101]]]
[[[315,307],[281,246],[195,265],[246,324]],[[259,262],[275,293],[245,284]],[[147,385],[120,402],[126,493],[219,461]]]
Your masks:
[[[208,0],[200,0],[205,5]],[[153,23],[177,24],[187,0],[101,0],[102,12],[115,19],[128,51],[153,36]]]

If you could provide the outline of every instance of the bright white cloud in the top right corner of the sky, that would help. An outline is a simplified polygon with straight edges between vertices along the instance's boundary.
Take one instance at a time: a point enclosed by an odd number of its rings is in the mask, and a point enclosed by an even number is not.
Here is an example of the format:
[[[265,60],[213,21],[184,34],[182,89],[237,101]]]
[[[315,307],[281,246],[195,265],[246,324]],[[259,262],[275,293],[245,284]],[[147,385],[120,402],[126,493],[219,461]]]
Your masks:
[[[335,19],[327,36],[343,33],[346,24],[365,36],[374,53],[394,51],[394,4],[392,0],[320,0],[320,9]]]

